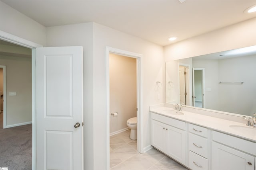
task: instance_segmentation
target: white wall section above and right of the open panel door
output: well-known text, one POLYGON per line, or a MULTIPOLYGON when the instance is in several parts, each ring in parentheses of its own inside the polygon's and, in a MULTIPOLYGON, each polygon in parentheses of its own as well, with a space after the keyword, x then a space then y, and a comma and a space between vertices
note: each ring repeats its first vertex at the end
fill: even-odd
POLYGON ((48 47, 82 46, 84 48, 84 169, 93 170, 94 161, 97 161, 97 158, 94 158, 94 145, 97 145, 97 141, 94 144, 93 130, 93 23, 47 27, 46 32, 48 47))

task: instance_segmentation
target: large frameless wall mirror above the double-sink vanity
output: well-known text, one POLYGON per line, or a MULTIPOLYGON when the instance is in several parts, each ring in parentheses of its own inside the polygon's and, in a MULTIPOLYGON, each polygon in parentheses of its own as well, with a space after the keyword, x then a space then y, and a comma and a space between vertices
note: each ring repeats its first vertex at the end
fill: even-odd
POLYGON ((166 103, 256 113, 256 46, 166 62, 166 103))

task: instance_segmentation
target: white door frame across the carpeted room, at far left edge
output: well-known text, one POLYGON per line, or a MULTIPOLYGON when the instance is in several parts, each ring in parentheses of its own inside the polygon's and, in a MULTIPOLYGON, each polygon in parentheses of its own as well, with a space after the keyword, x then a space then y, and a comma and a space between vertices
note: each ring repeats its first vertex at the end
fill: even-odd
POLYGON ((4 104, 3 104, 3 128, 6 128, 6 66, 1 65, 0 68, 3 68, 3 94, 4 94, 4 104))

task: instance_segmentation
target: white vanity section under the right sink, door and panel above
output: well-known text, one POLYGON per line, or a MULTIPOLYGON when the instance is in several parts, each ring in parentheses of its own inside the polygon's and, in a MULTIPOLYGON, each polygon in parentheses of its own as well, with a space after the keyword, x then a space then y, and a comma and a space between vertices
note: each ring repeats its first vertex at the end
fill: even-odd
POLYGON ((254 170, 255 143, 216 131, 212 140, 212 170, 254 170))

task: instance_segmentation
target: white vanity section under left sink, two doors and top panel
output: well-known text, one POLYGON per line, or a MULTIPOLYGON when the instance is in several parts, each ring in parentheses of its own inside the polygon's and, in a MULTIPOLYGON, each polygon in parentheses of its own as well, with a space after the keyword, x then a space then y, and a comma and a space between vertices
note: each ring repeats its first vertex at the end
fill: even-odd
POLYGON ((151 113, 151 145, 182 164, 186 164, 186 124, 151 113))

